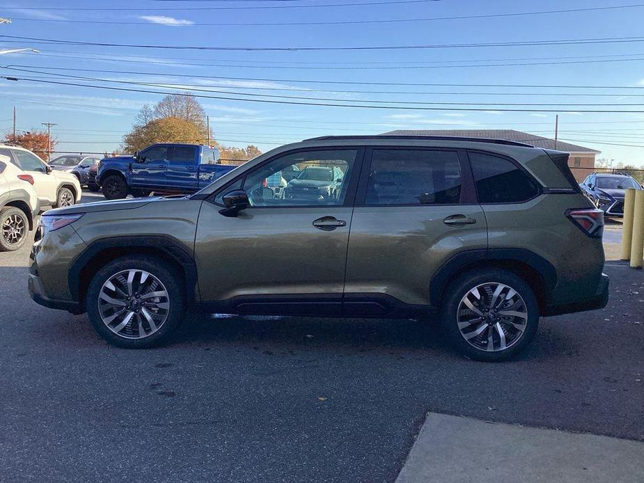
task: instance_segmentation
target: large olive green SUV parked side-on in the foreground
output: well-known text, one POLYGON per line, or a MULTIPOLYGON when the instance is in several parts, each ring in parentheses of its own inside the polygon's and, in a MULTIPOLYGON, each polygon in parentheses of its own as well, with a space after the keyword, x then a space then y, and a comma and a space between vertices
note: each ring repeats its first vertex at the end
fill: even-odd
POLYGON ((54 209, 29 290, 120 347, 187 308, 424 319, 471 358, 514 356, 539 317, 606 306, 603 214, 567 153, 510 141, 333 136, 267 152, 192 196, 54 209), (279 196, 276 173, 331 168, 279 196))

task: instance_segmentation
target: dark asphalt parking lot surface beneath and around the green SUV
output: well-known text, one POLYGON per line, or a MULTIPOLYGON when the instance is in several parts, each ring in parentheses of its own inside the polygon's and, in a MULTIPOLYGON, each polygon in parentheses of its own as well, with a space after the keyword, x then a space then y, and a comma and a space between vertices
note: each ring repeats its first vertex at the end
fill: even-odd
POLYGON ((127 351, 33 303, 28 262, 0 254, 2 481, 391 482, 428 411, 644 441, 644 274, 621 262, 606 309, 497 364, 411 320, 191 316, 127 351))

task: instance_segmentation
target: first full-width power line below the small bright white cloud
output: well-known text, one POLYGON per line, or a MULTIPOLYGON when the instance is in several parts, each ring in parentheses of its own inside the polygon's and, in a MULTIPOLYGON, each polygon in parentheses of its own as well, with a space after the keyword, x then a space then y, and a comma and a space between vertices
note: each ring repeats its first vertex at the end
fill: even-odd
POLYGON ((537 45, 596 45, 644 42, 644 37, 603 37, 560 40, 526 40, 518 42, 481 42, 466 44, 433 44, 433 45, 369 45, 352 47, 212 47, 200 45, 147 45, 117 44, 112 42, 88 42, 85 40, 61 40, 19 35, 0 35, 0 38, 29 40, 32 44, 88 45, 95 47, 134 47, 137 49, 175 49, 175 50, 212 50, 227 52, 311 52, 311 51, 366 51, 366 50, 407 50, 407 49, 460 49, 471 47, 529 47, 537 45))

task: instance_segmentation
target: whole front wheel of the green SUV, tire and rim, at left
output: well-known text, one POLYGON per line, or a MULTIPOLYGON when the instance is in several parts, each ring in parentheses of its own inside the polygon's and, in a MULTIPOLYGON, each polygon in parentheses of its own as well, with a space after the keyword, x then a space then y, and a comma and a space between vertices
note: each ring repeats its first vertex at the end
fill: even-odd
POLYGON ((162 345, 182 322, 185 296, 178 274, 148 255, 113 260, 92 278, 87 313, 108 342, 127 349, 162 345))

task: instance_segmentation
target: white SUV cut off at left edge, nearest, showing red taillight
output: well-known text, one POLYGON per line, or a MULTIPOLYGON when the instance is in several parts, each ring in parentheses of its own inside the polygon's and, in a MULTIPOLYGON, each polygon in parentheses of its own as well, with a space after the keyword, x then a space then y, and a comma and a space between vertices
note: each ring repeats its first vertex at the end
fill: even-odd
POLYGON ((33 177, 0 155, 0 251, 24 245, 39 210, 33 177))

